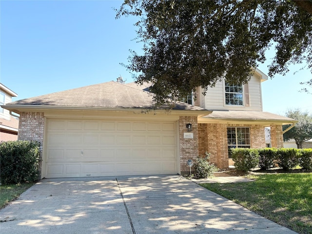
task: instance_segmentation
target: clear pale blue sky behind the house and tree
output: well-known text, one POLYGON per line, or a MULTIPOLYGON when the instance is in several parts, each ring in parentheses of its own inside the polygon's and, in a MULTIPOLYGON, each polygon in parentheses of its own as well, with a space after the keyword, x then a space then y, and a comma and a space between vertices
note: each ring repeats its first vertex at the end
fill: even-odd
MULTIPOLYGON (((0 82, 20 100, 98 84, 121 76, 129 50, 141 52, 135 17, 116 18, 119 0, 0 0, 0 82)), ((267 65, 259 69, 268 74, 267 65)), ((284 116, 299 108, 312 114, 312 94, 299 92, 312 78, 305 64, 262 82, 263 111, 284 116), (296 72, 296 73, 295 73, 296 72), (294 74, 295 73, 295 74, 294 74)))

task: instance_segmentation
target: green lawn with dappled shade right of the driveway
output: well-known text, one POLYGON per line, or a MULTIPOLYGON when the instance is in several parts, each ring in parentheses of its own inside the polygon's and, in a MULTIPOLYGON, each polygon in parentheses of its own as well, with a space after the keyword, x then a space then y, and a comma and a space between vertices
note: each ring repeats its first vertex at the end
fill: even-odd
POLYGON ((299 234, 312 234, 312 173, 253 178, 253 182, 201 186, 299 234))

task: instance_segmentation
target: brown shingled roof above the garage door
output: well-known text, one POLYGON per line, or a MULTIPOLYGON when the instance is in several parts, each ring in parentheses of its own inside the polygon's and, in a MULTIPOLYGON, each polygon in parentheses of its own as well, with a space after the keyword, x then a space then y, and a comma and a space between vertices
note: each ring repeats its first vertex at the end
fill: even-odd
MULTIPOLYGON (((115 81, 84 86, 34 98, 26 98, 7 103, 4 108, 18 107, 68 107, 105 109, 152 109, 153 94, 115 81)), ((161 106, 159 109, 166 109, 161 106)), ((204 110, 200 107, 177 102, 174 110, 204 110)))

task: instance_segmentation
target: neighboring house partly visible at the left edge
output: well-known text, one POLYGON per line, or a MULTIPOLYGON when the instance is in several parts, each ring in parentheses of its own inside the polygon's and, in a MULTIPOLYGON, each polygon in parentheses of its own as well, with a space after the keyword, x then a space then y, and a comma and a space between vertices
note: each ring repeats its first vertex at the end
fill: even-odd
MULTIPOLYGON (((0 105, 12 101, 17 97, 9 88, 0 83, 0 105)), ((0 107, 0 141, 17 140, 19 132, 19 120, 10 115, 10 112, 0 107)))

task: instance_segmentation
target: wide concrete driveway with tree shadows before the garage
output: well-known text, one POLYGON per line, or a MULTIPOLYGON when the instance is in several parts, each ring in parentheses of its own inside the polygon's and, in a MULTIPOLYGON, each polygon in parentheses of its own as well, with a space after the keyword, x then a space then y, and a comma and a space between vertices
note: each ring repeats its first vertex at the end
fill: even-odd
POLYGON ((182 176, 43 179, 1 234, 295 234, 182 176))

